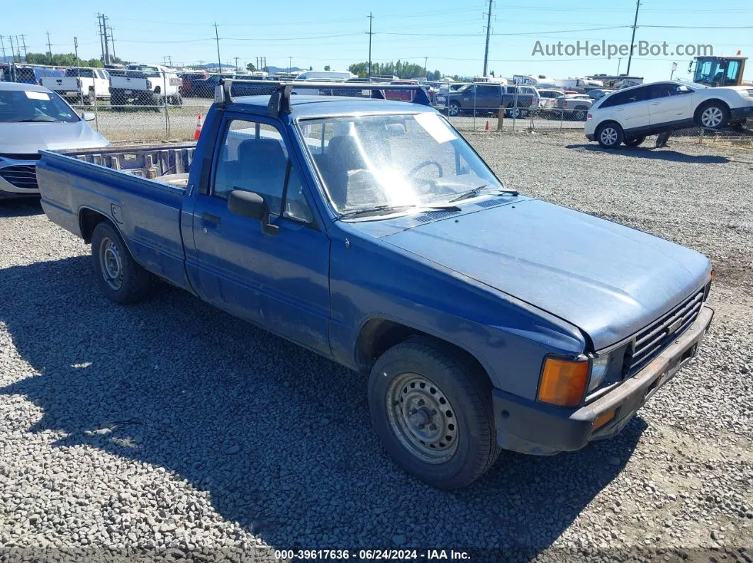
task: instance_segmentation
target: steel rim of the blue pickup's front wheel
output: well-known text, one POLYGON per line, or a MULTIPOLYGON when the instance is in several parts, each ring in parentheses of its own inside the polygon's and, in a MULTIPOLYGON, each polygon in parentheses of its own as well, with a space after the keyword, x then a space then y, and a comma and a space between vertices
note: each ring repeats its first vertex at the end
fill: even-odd
POLYGON ((441 464, 458 449, 458 421, 450 400, 419 374, 401 374, 389 386, 387 413, 392 432, 416 458, 441 464))

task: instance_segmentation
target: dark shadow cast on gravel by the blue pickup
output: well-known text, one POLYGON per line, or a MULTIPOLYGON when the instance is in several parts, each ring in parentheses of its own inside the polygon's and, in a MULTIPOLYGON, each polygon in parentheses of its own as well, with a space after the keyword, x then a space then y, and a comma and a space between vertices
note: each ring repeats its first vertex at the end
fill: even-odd
MULTIPOLYGON (((80 454, 93 465, 104 465, 99 449, 172 471, 279 549, 535 554, 620 473, 645 428, 638 417, 577 453, 502 453, 473 486, 441 492, 386 458, 363 377, 181 290, 157 285, 145 304, 114 306, 80 256, 0 270, 0 293, 0 321, 29 365, 0 394, 41 408, 30 433, 95 448, 80 454)), ((123 487, 114 475, 112 486, 123 487)), ((185 510, 166 507, 177 522, 185 510)))

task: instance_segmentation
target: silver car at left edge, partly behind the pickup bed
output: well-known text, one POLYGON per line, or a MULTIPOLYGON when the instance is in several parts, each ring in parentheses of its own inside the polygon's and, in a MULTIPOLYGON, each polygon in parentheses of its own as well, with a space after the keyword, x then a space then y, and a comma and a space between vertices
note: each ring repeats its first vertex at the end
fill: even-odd
POLYGON ((0 82, 0 199, 37 195, 39 150, 108 147, 107 139, 55 92, 0 82))

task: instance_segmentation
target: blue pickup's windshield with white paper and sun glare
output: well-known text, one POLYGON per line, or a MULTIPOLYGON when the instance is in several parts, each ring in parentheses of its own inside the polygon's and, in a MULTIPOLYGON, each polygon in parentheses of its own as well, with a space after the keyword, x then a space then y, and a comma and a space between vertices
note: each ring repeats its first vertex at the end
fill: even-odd
POLYGON ((438 114, 331 117, 298 126, 341 214, 430 207, 504 189, 438 114))

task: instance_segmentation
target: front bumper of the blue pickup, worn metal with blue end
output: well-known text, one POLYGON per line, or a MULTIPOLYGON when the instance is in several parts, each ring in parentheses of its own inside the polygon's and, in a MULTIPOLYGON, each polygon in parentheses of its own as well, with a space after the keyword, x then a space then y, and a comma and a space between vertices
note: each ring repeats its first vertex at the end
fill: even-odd
POLYGON ((614 436, 657 389, 696 355, 713 316, 714 310, 704 305, 693 325, 642 371, 584 407, 554 407, 494 389, 492 400, 499 446, 549 456, 581 449, 590 440, 614 436), (616 410, 614 418, 594 430, 596 419, 611 410, 616 410))

